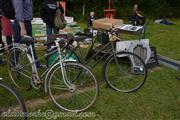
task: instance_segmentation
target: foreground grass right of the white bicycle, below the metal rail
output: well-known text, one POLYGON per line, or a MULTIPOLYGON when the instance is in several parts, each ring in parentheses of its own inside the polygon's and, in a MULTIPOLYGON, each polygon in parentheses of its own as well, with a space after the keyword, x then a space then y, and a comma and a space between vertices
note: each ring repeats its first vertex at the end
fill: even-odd
MULTIPOLYGON (((138 92, 131 94, 118 93, 100 82, 98 100, 88 110, 88 112, 94 112, 96 117, 87 119, 180 119, 180 93, 178 92, 180 83, 174 78, 176 75, 178 75, 176 71, 164 67, 150 71, 145 85, 138 92)), ((40 108, 41 111, 49 109, 63 112, 53 103, 45 104, 40 108)), ((66 120, 66 118, 59 119, 66 120)))

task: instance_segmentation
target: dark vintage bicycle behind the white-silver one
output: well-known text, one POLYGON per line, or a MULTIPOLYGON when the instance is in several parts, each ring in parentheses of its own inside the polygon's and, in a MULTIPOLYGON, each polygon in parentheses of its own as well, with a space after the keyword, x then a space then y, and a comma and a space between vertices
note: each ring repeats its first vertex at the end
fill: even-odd
POLYGON ((72 46, 71 51, 76 54, 81 63, 92 68, 105 60, 102 67, 102 78, 112 89, 125 93, 138 90, 147 79, 148 73, 144 60, 135 53, 116 50, 116 42, 120 40, 118 28, 105 32, 108 34, 104 38, 109 38, 109 40, 104 45, 98 46, 96 46, 97 35, 92 37, 93 35, 89 34, 77 34, 75 37, 78 40, 78 45, 72 46), (92 38, 92 43, 85 59, 83 59, 79 42, 89 36, 92 38))

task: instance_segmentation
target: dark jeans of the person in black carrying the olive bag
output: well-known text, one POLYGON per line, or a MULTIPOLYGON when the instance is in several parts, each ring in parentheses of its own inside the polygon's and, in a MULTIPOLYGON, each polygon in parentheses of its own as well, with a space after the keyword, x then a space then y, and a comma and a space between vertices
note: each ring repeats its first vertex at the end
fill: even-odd
MULTIPOLYGON (((46 34, 47 34, 47 42, 49 43, 49 42, 51 42, 49 35, 59 34, 59 29, 56 29, 56 28, 51 27, 49 25, 46 25, 46 34)), ((51 45, 47 45, 47 48, 50 49, 51 45)))

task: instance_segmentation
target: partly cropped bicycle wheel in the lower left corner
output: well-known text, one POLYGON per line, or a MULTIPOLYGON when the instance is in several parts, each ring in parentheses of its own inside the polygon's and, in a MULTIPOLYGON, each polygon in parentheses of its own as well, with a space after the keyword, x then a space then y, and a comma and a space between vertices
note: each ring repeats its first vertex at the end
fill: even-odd
POLYGON ((26 106, 20 94, 0 80, 0 118, 26 120, 26 106))

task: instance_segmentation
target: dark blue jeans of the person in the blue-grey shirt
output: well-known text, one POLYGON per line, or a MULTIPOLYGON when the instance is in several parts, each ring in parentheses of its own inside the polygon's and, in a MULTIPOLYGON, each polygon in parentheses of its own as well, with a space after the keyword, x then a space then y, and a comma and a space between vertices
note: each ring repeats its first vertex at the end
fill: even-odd
MULTIPOLYGON (((32 24, 31 21, 24 21, 24 25, 27 31, 28 36, 32 36, 32 24)), ((13 29, 14 29, 14 43, 19 43, 21 40, 21 30, 20 30, 20 25, 19 22, 15 20, 13 24, 13 29)), ((34 44, 33 46, 33 52, 34 52, 34 58, 37 59, 36 52, 34 49, 34 44)), ((41 64, 39 61, 36 62, 36 66, 39 67, 41 64)))

